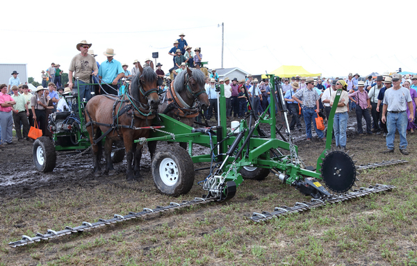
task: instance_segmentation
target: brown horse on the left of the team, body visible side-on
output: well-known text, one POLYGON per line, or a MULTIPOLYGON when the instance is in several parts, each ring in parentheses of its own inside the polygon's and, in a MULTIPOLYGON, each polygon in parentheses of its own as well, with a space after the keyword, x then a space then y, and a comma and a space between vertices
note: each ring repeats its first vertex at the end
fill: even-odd
POLYGON ((104 173, 114 168, 111 161, 111 147, 113 142, 122 139, 126 149, 126 178, 128 181, 140 178, 140 158, 142 157, 142 145, 133 143, 138 138, 147 138, 148 129, 139 129, 151 126, 152 119, 156 116, 159 106, 157 94, 158 78, 152 67, 142 68, 139 63, 140 74, 133 77, 130 86, 130 94, 120 97, 115 95, 98 95, 92 97, 85 106, 85 121, 90 134, 90 142, 94 154, 94 172, 101 170, 101 138, 106 137, 104 154, 106 168, 104 173), (102 133, 104 133, 102 135, 102 133), (134 169, 132 169, 132 161, 134 169))

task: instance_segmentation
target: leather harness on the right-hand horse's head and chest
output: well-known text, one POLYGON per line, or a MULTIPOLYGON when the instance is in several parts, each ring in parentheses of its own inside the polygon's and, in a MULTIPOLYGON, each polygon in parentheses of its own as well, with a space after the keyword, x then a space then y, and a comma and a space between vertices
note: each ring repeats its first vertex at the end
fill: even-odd
MULTIPOLYGON (((188 75, 188 74, 187 74, 188 75)), ((192 106, 188 106, 188 104, 183 101, 181 96, 174 90, 174 81, 172 81, 170 88, 167 90, 167 93, 170 93, 170 98, 167 98, 168 106, 163 111, 163 114, 170 113, 170 111, 173 111, 175 115, 178 117, 186 117, 186 118, 193 118, 197 117, 199 115, 199 101, 197 97, 199 97, 200 94, 206 92, 206 90, 202 89, 198 92, 193 92, 190 88, 190 79, 193 77, 187 78, 186 83, 184 83, 184 86, 186 87, 187 91, 193 95, 194 100, 192 103, 192 106)))

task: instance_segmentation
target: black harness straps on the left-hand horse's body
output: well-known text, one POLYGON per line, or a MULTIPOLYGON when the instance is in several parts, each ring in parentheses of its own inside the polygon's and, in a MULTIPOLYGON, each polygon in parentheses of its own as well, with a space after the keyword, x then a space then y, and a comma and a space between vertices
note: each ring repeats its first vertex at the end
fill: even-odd
MULTIPOLYGON (((149 94, 151 94, 152 92, 155 92, 155 91, 156 91, 156 89, 152 89, 152 90, 149 90, 145 93, 145 91, 142 90, 142 86, 140 86, 140 92, 144 95, 144 97, 147 97, 147 95, 149 95, 149 94)), ((113 131, 113 132, 117 131, 117 135, 119 135, 119 128, 138 129, 134 126, 135 117, 146 120, 147 125, 148 125, 148 119, 154 119, 154 117, 156 117, 156 114, 152 113, 152 111, 150 110, 150 106, 148 104, 140 103, 139 101, 136 101, 135 99, 132 100, 131 96, 127 93, 125 93, 123 95, 120 95, 118 97, 111 96, 109 94, 104 94, 104 96, 107 97, 108 99, 112 99, 112 100, 115 101, 113 103, 113 112, 112 112, 113 124, 105 124, 105 123, 99 123, 99 122, 93 121, 91 119, 90 113, 88 113, 87 108, 85 108, 85 113, 88 115, 88 118, 90 119, 90 121, 87 124, 85 124, 85 126, 90 126, 91 125, 92 134, 94 134, 93 125, 109 127, 108 130, 104 134, 102 134, 99 138, 94 140, 94 144, 97 144, 98 142, 100 142, 104 137, 106 137, 106 135, 108 135, 108 133, 111 133, 111 131, 113 131), (127 99, 124 99, 124 96, 126 96, 127 99), (136 105, 135 105, 135 103, 133 103, 133 101, 136 101, 137 103, 139 103, 140 107, 139 108, 136 107, 136 105), (116 111, 118 103, 120 103, 120 106, 119 106, 118 110, 116 111), (125 105, 122 107, 123 103, 125 103, 125 105), (130 125, 119 124, 119 117, 122 116, 124 113, 126 113, 126 115, 131 116, 131 124, 130 125)))

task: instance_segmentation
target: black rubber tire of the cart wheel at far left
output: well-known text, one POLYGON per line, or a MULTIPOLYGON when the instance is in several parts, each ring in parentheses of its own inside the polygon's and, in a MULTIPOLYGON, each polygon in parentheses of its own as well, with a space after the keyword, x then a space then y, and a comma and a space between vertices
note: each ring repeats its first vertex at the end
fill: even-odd
POLYGON ((54 142, 48 137, 40 137, 33 142, 33 163, 35 164, 36 169, 40 172, 52 172, 56 166, 56 151, 54 142), (43 159, 44 162, 41 165, 38 161, 37 151, 39 149, 43 150, 43 159))

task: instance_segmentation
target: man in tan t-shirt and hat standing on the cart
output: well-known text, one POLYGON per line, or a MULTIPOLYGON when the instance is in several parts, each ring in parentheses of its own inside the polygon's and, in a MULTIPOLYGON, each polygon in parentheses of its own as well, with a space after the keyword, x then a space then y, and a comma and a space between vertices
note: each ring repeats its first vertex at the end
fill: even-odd
POLYGON ((92 44, 89 44, 86 40, 82 40, 76 44, 76 49, 81 51, 74 58, 72 58, 70 63, 70 69, 68 71, 68 85, 70 89, 79 89, 80 99, 85 99, 88 101, 91 99, 92 85, 86 85, 92 83, 91 76, 97 76, 99 70, 97 67, 96 60, 94 56, 88 53, 92 44), (75 78, 75 85, 72 83, 72 78, 75 78))

